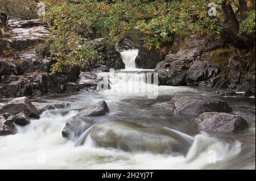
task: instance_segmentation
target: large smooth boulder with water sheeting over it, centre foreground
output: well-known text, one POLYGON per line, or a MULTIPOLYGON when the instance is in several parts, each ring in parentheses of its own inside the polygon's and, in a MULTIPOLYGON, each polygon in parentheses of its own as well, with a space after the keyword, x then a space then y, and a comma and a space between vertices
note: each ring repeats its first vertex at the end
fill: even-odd
POLYGON ((124 151, 185 155, 191 146, 191 142, 168 128, 146 128, 123 121, 97 124, 89 136, 97 146, 124 151))

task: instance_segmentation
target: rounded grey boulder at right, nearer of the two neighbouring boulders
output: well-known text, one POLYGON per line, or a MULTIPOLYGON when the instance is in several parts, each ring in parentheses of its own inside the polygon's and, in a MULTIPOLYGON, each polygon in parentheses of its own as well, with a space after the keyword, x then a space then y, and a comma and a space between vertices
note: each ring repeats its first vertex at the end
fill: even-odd
POLYGON ((212 132, 239 132, 249 128, 246 120, 241 116, 230 115, 224 112, 205 112, 195 120, 203 131, 212 132))

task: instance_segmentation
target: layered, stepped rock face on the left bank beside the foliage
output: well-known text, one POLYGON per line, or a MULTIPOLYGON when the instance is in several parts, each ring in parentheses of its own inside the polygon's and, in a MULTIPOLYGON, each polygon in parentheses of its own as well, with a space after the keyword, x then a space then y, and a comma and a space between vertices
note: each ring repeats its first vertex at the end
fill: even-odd
POLYGON ((9 21, 13 30, 8 39, 14 55, 0 58, 0 97, 36 96, 78 91, 80 70, 73 66, 64 73, 50 74, 52 61, 36 53, 39 43, 45 43, 50 30, 40 20, 9 21))

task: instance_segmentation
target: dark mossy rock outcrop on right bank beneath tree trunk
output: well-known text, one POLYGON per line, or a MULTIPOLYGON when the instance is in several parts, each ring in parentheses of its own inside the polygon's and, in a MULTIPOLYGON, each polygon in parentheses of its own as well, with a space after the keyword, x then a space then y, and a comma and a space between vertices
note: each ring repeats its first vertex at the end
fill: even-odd
POLYGON ((211 37, 176 37, 155 71, 160 85, 209 86, 255 95, 255 47, 238 49, 211 37))

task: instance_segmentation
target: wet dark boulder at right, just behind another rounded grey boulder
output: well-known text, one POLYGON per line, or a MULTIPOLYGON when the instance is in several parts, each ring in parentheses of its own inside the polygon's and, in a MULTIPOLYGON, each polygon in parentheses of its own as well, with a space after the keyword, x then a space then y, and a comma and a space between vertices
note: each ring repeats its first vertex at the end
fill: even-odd
POLYGON ((228 103, 202 96, 181 96, 172 98, 170 104, 175 115, 198 116, 203 112, 232 112, 228 103))

